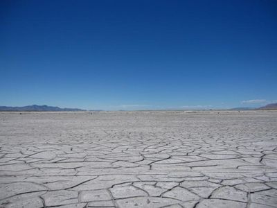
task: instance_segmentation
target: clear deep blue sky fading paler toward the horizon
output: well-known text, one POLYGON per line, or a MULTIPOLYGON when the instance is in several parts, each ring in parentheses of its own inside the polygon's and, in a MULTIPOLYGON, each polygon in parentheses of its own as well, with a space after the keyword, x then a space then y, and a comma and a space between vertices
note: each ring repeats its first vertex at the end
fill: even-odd
POLYGON ((277 1, 0 1, 0 105, 277 100, 277 1))

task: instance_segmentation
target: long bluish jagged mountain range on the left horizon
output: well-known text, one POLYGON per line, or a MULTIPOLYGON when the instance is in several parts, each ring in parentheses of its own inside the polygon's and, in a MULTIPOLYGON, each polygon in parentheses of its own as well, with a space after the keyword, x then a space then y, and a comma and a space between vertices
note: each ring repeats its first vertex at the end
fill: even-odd
POLYGON ((0 106, 0 111, 84 111, 79 108, 60 108, 48 105, 27 105, 24 107, 0 106))

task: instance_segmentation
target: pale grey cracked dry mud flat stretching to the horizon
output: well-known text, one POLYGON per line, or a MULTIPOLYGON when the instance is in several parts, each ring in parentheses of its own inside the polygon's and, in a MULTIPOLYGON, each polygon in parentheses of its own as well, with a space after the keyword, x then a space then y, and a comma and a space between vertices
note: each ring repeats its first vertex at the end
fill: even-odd
POLYGON ((0 141, 0 207, 277 207, 277 112, 6 112, 0 141))

